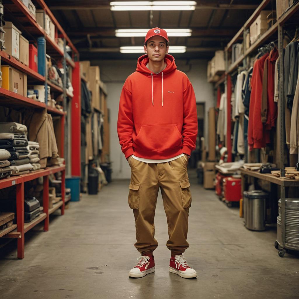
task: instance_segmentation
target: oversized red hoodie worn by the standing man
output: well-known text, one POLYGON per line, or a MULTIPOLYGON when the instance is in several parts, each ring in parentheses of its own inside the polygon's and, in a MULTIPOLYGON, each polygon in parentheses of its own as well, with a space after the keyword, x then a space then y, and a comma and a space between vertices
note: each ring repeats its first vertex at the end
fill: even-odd
POLYGON ((118 111, 118 138, 126 158, 168 159, 195 149, 197 112, 193 87, 166 55, 159 74, 147 67, 146 55, 123 85, 118 111))

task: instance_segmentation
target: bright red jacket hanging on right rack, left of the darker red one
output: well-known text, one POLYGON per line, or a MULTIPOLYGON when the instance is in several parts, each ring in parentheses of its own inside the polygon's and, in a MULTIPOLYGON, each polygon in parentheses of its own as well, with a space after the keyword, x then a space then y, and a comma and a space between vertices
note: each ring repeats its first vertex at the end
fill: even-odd
POLYGON ((269 132, 266 132, 261 118, 264 63, 268 56, 269 53, 264 54, 253 66, 248 121, 249 150, 266 147, 270 143, 269 132))

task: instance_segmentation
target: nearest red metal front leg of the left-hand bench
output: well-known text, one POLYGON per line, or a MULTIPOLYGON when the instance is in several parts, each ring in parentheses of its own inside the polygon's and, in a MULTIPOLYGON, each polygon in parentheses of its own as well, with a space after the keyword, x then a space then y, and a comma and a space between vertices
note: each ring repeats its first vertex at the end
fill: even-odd
POLYGON ((17 231, 21 233, 18 239, 18 259, 24 258, 25 233, 24 233, 24 183, 17 184, 17 231))

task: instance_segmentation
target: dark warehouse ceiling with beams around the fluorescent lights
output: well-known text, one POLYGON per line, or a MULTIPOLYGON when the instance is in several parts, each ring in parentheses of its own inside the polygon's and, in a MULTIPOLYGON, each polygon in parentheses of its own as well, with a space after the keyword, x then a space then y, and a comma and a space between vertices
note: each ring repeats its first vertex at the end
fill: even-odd
POLYGON ((84 59, 131 59, 121 46, 143 46, 144 37, 116 37, 115 29, 188 28, 189 37, 170 37, 170 46, 187 46, 176 58, 210 58, 242 27, 261 1, 196 1, 195 10, 113 11, 110 1, 47 0, 58 22, 84 59))

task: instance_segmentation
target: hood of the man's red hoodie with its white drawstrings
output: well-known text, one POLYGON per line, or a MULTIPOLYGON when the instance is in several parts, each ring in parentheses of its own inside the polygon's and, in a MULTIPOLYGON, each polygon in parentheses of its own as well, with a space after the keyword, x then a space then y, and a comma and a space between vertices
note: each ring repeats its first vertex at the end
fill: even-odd
POLYGON ((152 77, 152 106, 154 106, 154 83, 153 83, 153 75, 159 75, 161 74, 161 80, 162 80, 162 107, 164 103, 164 96, 163 96, 163 74, 169 74, 170 72, 176 70, 176 63, 174 62, 174 57, 167 54, 164 57, 164 62, 166 62, 166 68, 161 71, 158 74, 153 74, 152 71, 150 71, 147 68, 147 63, 149 62, 149 58, 147 54, 142 55, 141 57, 138 58, 137 61, 137 68, 136 71, 140 72, 141 74, 144 74, 146 76, 151 76, 152 77))

